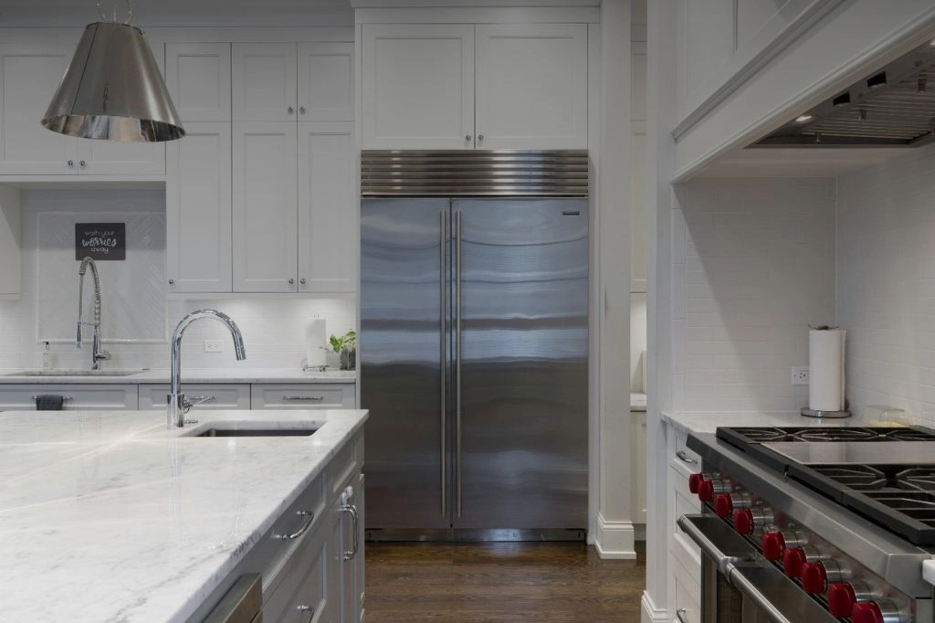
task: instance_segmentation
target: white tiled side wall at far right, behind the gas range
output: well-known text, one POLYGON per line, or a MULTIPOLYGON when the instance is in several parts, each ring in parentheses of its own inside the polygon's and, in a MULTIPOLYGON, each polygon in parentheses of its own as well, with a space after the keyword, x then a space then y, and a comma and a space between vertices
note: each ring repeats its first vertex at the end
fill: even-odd
POLYGON ((839 180, 838 319, 847 389, 935 424, 935 148, 839 180))

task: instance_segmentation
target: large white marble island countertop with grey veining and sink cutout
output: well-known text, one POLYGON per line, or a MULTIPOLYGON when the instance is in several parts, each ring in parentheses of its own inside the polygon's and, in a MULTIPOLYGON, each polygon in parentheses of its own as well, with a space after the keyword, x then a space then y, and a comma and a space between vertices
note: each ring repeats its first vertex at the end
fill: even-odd
POLYGON ((0 413, 4 620, 183 621, 365 411, 0 413), (211 423, 310 437, 191 438, 211 423))

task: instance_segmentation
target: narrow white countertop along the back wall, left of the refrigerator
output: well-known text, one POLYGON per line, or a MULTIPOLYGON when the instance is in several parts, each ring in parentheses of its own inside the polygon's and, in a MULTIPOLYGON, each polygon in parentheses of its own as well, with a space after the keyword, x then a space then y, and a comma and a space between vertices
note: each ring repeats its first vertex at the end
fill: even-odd
MULTIPOLYGON (((143 369, 134 374, 110 376, 68 375, 30 376, 22 370, 0 370, 0 384, 141 384, 168 383, 168 369, 143 369)), ((66 370, 65 370, 66 371, 66 370)), ((107 371, 106 364, 104 371, 107 371)), ((357 381, 354 370, 328 369, 324 372, 300 368, 182 368, 181 380, 189 383, 347 383, 357 381)))

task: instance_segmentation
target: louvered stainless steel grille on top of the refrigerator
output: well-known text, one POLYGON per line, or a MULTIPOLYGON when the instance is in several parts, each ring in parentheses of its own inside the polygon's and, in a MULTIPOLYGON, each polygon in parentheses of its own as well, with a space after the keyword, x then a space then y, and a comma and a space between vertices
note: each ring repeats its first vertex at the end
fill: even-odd
POLYGON ((587 196, 587 150, 361 152, 361 196, 587 196))

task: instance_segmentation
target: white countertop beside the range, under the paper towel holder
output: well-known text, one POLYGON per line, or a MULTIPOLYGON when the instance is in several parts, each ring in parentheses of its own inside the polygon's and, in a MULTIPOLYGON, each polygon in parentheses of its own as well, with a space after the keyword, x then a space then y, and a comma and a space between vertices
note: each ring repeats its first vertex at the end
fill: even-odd
POLYGON ((865 420, 857 415, 844 418, 805 417, 786 412, 688 412, 664 411, 662 421, 685 433, 712 433, 717 427, 866 427, 902 426, 900 422, 865 420))

